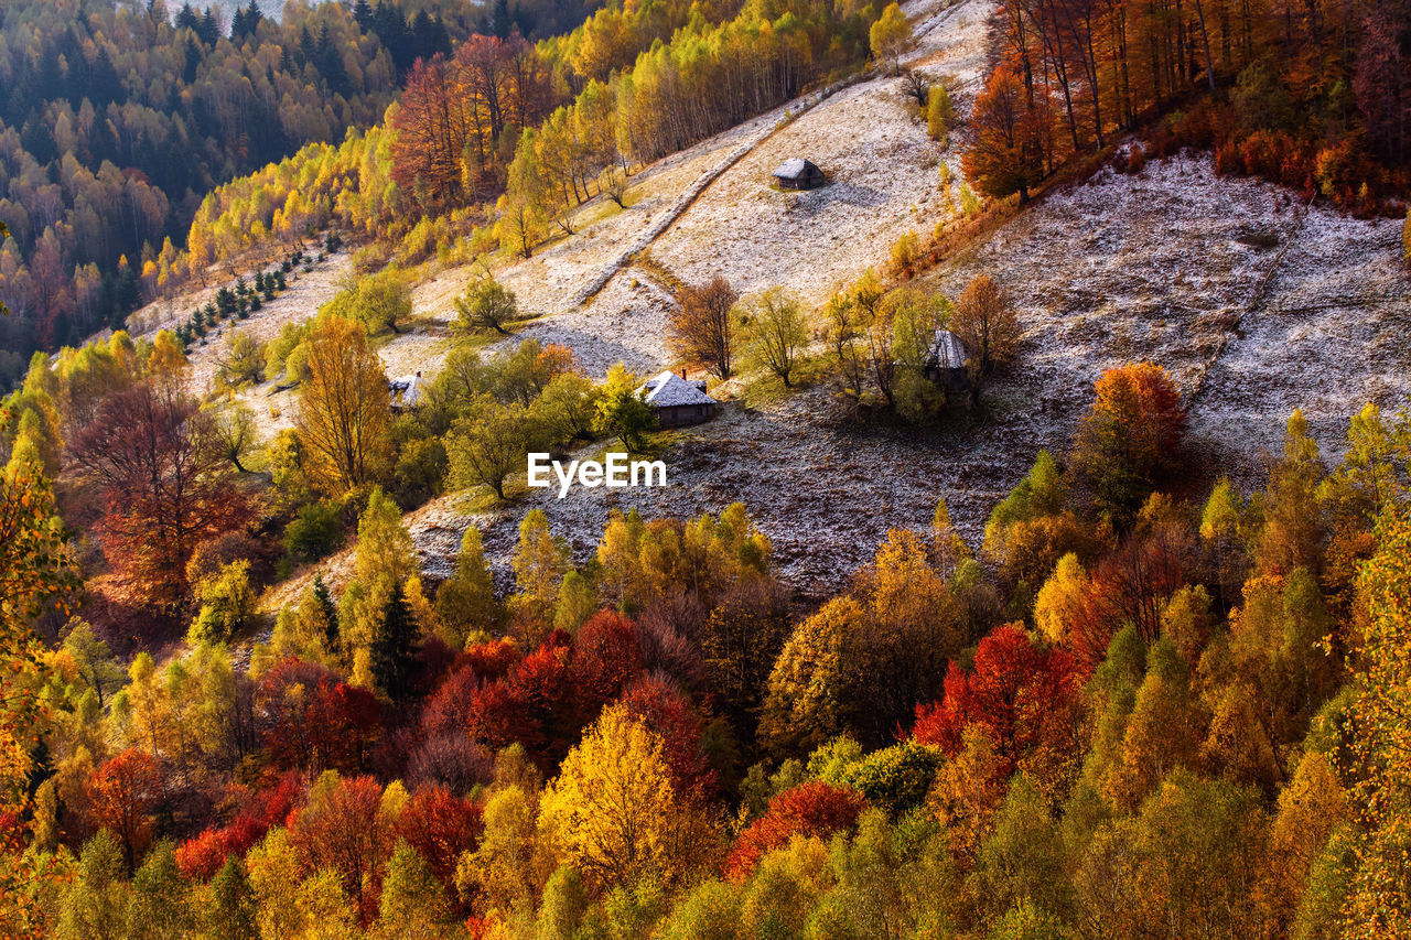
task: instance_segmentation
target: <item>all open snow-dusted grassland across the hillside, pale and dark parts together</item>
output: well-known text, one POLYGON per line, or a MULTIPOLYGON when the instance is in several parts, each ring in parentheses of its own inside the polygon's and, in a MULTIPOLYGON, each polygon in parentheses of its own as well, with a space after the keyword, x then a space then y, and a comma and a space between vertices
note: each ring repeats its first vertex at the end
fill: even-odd
MULTIPOLYGON (((964 113, 985 65, 991 3, 914 0, 904 10, 920 35, 910 64, 933 79, 950 76, 964 113)), ((576 234, 526 261, 497 263, 495 277, 536 318, 501 344, 528 336, 563 343, 591 375, 618 361, 656 371, 674 364, 663 343, 673 301, 660 270, 686 281, 718 272, 741 294, 782 285, 816 306, 885 264, 903 233, 930 231, 957 210, 943 196, 940 162, 958 183, 958 148, 941 151, 927 137, 899 78, 872 73, 782 120, 792 107, 641 171, 626 209, 597 199, 580 210, 576 234), (751 140, 756 145, 652 241, 650 270, 628 264, 573 305, 682 193, 751 140), (769 172, 794 155, 818 164, 830 183, 806 193, 773 189, 769 172)), ((1257 486, 1264 452, 1278 447, 1294 408, 1304 408, 1325 456, 1336 459, 1348 419, 1364 402, 1397 408, 1411 395, 1411 284, 1398 230, 1307 206, 1264 182, 1218 176, 1204 154, 1150 161, 1136 175, 1102 169, 1044 193, 921 278, 955 296, 985 271, 1019 309, 1017 363, 986 390, 978 412, 962 409, 919 432, 838 423, 823 388, 727 401, 715 421, 667 438, 665 488, 626 497, 574 490, 563 500, 533 490, 484 512, 467 510, 466 494, 450 494, 409 514, 408 525, 432 580, 449 573, 471 522, 504 579, 531 508, 545 510, 583 560, 614 508, 684 517, 739 500, 772 539, 780 572, 801 596, 820 597, 871 559, 889 528, 927 525, 938 498, 976 545, 995 502, 1038 449, 1067 446, 1092 382, 1133 360, 1157 361, 1181 384, 1201 476, 1230 473, 1257 486)), ((250 329, 261 316, 312 315, 322 296, 313 278, 327 289, 339 264, 305 275, 306 294, 289 291, 250 329)), ((468 267, 453 268, 416 288, 422 326, 382 346, 389 374, 435 374, 449 346, 452 302, 473 277, 468 267)), ((198 350, 198 370, 206 354, 198 350)), ((735 385, 718 397, 728 399, 735 385)), ((337 584, 350 553, 322 567, 337 584)), ((275 589, 265 604, 288 600, 302 580, 275 589)))

